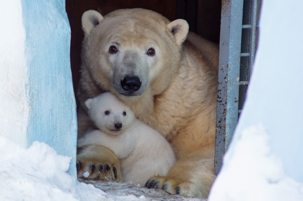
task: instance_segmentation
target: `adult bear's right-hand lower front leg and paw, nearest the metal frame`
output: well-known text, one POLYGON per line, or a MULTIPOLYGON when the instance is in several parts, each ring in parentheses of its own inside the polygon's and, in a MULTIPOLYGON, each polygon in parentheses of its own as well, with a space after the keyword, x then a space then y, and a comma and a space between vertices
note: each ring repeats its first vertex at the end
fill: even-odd
POLYGON ((207 198, 215 180, 214 156, 196 152, 178 160, 167 176, 148 179, 147 188, 161 188, 172 194, 207 198))

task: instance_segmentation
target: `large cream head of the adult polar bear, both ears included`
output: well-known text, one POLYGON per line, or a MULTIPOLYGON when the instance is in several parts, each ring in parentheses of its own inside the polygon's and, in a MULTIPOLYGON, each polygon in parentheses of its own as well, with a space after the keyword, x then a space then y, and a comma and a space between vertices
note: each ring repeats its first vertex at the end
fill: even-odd
POLYGON ((104 91, 127 100, 167 89, 180 66, 188 24, 144 9, 105 17, 90 10, 82 15, 82 29, 82 68, 104 91))

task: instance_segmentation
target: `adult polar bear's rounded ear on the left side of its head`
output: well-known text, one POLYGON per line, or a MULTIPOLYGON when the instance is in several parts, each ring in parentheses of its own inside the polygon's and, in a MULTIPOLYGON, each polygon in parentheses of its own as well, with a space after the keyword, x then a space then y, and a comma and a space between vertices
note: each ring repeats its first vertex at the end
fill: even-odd
POLYGON ((91 29, 97 26, 103 19, 103 16, 94 10, 84 12, 81 18, 84 34, 89 34, 91 29))

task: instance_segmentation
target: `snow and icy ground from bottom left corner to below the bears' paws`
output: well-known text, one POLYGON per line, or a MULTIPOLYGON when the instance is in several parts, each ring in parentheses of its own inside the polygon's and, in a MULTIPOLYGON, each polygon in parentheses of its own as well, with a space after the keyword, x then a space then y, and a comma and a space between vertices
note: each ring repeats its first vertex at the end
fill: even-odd
POLYGON ((69 163, 69 157, 58 155, 45 143, 34 142, 22 149, 0 136, 0 200, 201 200, 131 182, 78 182, 66 173, 69 163))

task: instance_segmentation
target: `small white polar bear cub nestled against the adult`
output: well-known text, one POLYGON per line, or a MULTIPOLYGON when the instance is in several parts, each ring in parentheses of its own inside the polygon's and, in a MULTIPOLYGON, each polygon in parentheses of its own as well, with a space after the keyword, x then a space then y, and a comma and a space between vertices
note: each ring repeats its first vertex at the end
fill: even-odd
POLYGON ((101 145, 121 160, 124 181, 144 185, 152 176, 165 176, 175 163, 172 147, 155 129, 135 118, 134 113, 111 93, 85 101, 88 115, 98 129, 88 129, 78 147, 101 145))

